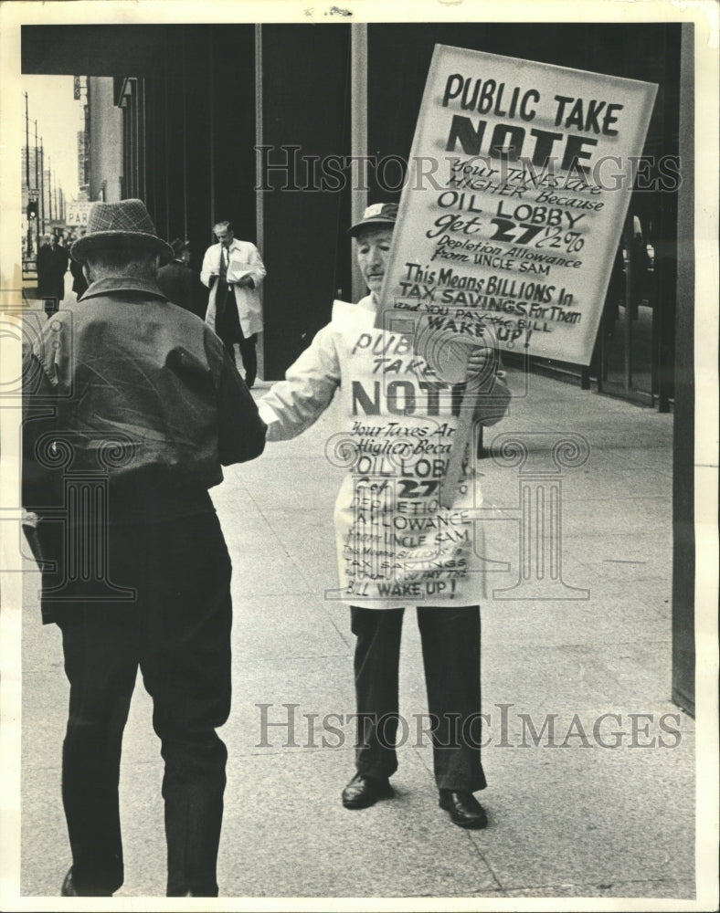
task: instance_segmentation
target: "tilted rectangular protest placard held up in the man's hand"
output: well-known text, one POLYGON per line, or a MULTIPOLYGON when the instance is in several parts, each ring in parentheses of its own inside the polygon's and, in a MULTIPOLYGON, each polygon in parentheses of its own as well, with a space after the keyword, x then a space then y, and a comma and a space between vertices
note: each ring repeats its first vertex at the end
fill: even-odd
POLYGON ((656 90, 436 45, 378 325, 589 364, 656 90))

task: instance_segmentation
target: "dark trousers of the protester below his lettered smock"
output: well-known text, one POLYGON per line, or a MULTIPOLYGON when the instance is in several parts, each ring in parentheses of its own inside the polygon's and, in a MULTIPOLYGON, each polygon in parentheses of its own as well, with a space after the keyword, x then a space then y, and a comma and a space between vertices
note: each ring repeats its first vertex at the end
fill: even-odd
MULTIPOLYGON (((389 777, 397 770, 398 666, 404 609, 351 606, 355 644, 357 771, 389 777)), ((480 760, 480 608, 418 607, 439 789, 475 792, 486 786, 480 760)), ((408 719, 408 739, 417 738, 408 719)), ((405 733, 405 727, 403 726, 405 733)), ((425 738, 425 737, 423 737, 425 738)))

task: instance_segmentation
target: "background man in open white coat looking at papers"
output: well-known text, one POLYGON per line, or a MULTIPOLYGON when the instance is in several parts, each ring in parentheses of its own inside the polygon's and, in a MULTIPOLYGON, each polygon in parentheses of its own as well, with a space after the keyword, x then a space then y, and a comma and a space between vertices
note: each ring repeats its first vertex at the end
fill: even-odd
POLYGON ((213 232, 217 244, 207 248, 200 272, 200 279, 210 289, 205 319, 233 359, 238 343, 245 383, 251 388, 258 373, 255 347, 262 331, 259 289, 265 267, 258 248, 235 237, 232 223, 217 222, 213 232))

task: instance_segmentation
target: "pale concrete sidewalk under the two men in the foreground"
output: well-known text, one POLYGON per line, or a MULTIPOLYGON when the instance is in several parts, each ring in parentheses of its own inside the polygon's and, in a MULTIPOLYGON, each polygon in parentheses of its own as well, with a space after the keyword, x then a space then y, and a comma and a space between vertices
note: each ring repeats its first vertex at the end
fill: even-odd
MULTIPOLYGON (((361 812, 340 803, 354 770, 344 715, 355 707, 349 614, 333 593, 343 477, 324 453, 333 409, 297 440, 231 467, 213 491, 234 565, 223 897, 694 897, 694 722, 670 701, 672 415, 535 375, 527 390, 520 374, 510 379, 511 414, 486 444, 514 433, 530 451, 524 470, 561 480, 567 588, 551 598, 510 589, 521 579, 521 467, 482 460, 486 554, 509 564, 488 575, 482 603, 487 830, 463 831, 438 808, 428 737, 416 731, 427 700, 413 612, 397 796, 361 812), (568 433, 558 469, 550 449, 568 433), (584 441, 585 462, 573 453, 584 441)), ((22 885, 57 896, 69 866, 59 792, 67 685, 58 631, 39 622, 37 582, 26 574, 22 885)), ((164 895, 161 777, 138 684, 119 896, 164 895)))

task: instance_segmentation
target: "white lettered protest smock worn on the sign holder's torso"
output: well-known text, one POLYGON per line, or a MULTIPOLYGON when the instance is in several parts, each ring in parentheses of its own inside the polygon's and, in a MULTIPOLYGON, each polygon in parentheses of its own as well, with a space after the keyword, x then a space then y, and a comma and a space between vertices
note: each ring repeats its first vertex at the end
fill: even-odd
POLYGON ((361 305, 334 302, 329 329, 346 424, 325 452, 350 470, 334 513, 337 596, 376 609, 408 599, 470 604, 488 567, 477 529, 482 492, 467 474, 443 497, 462 391, 374 319, 361 305))

